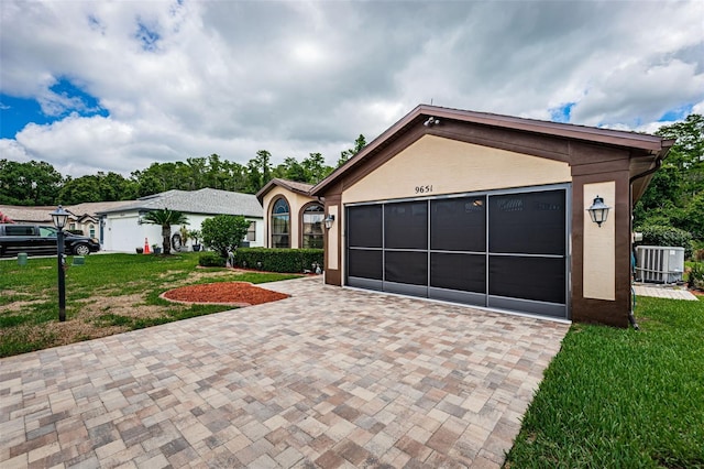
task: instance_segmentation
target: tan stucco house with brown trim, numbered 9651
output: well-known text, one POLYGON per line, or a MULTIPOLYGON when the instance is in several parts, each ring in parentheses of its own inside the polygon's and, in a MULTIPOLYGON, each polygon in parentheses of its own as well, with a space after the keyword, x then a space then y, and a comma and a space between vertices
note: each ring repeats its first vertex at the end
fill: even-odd
POLYGON ((308 193, 326 283, 626 327, 632 205, 672 143, 419 106, 308 193))

